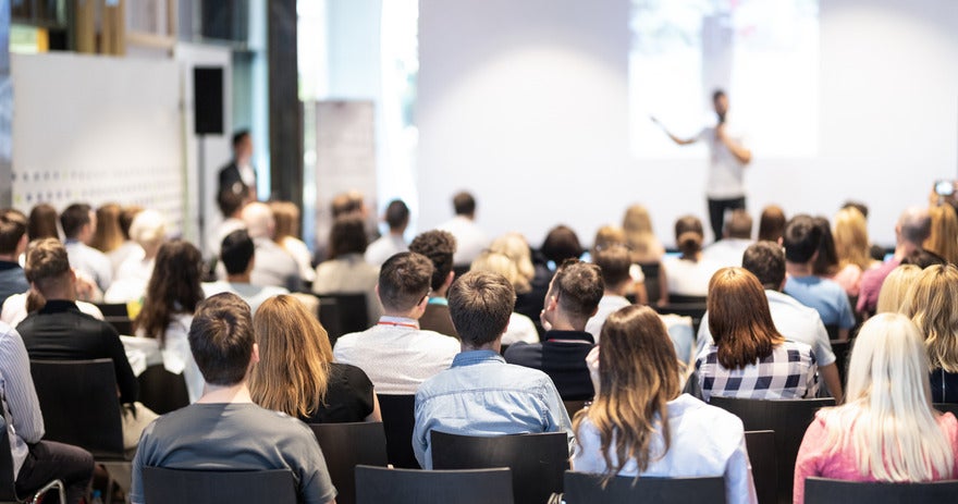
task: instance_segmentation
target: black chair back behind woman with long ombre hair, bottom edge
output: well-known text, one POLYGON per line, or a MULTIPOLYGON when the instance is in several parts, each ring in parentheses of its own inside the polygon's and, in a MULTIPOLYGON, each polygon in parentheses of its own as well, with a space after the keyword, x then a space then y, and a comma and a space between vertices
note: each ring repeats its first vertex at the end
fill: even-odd
POLYGON ((725 480, 714 478, 636 478, 616 476, 602 488, 600 475, 565 472, 566 504, 688 504, 725 502, 725 480))

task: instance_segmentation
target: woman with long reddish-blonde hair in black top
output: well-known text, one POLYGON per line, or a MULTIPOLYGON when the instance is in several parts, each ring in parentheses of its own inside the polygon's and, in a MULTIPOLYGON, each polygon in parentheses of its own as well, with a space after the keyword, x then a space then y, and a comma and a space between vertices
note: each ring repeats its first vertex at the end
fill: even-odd
POLYGON ((253 401, 306 423, 380 421, 372 382, 361 369, 333 362, 326 329, 298 299, 279 295, 253 317, 259 362, 249 378, 253 401))

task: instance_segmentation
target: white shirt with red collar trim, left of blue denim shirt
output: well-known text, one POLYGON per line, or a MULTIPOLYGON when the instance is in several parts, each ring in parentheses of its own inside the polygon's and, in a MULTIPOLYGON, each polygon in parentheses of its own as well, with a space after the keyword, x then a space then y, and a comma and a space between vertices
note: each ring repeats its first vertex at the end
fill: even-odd
POLYGON ((379 394, 415 394, 423 381, 449 369, 459 341, 419 329, 413 319, 382 317, 363 332, 336 340, 336 362, 366 371, 379 394))

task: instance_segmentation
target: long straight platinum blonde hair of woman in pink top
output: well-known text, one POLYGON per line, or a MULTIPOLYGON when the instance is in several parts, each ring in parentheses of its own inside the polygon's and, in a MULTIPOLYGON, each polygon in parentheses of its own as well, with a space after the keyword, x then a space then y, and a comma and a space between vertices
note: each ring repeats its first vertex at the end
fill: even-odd
POLYGON ((845 401, 820 416, 830 444, 850 446, 862 474, 902 482, 953 472, 953 444, 931 408, 921 330, 906 316, 881 314, 862 325, 851 351, 845 401))

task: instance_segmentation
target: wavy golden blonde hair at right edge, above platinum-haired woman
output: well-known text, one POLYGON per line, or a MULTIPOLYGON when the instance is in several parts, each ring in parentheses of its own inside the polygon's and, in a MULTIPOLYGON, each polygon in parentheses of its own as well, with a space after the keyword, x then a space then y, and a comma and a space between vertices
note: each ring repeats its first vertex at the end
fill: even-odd
POLYGON ((958 372, 958 268, 930 266, 908 290, 901 312, 924 333, 932 369, 958 372))

